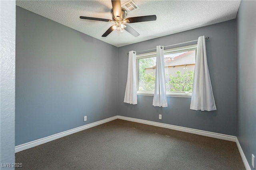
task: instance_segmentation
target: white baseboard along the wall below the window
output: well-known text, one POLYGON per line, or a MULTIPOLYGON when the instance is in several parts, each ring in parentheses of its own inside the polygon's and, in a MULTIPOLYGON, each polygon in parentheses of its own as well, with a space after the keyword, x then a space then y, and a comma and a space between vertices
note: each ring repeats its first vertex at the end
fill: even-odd
POLYGON ((198 129, 191 129, 191 128, 188 128, 188 127, 180 127, 180 126, 169 125, 169 124, 165 124, 165 123, 158 123, 158 122, 154 122, 154 121, 135 119, 135 118, 131 118, 131 117, 118 116, 117 118, 122 119, 122 120, 127 120, 127 121, 133 121, 133 122, 137 122, 137 123, 143 123, 143 124, 146 124, 146 125, 164 127, 164 128, 173 129, 173 130, 176 130, 176 131, 194 133, 194 134, 197 134, 197 135, 202 135, 202 136, 213 137, 213 138, 217 138, 217 139, 223 139, 223 140, 226 140, 226 141, 236 142, 236 137, 231 136, 231 135, 224 135, 224 134, 220 134, 220 133, 202 131, 202 130, 198 130, 198 129))

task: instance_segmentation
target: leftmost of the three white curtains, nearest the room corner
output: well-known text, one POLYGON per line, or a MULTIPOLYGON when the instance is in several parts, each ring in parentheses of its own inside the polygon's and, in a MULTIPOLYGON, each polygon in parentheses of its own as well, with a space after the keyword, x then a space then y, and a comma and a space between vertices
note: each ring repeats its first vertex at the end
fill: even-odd
POLYGON ((130 51, 128 59, 128 74, 124 94, 124 103, 137 104, 136 82, 136 52, 130 51))

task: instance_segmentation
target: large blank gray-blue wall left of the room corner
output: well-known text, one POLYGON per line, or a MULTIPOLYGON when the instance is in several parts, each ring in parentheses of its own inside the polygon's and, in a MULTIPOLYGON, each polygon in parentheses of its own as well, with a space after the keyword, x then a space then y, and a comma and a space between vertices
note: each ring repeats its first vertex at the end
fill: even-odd
POLYGON ((20 7, 16 27, 16 146, 117 115, 117 47, 20 7))

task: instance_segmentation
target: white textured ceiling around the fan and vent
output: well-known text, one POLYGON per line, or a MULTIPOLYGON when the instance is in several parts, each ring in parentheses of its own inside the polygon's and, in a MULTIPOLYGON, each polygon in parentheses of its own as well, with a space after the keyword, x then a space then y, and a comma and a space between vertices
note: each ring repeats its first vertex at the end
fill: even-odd
MULTIPOLYGON (((121 4, 128 0, 121 0, 121 4)), ((128 23, 140 35, 133 37, 127 31, 112 31, 101 35, 111 22, 82 20, 79 16, 111 19, 111 0, 20 0, 16 5, 49 18, 116 47, 145 41, 236 18, 240 0, 134 0, 138 9, 128 12, 126 18, 156 15, 156 21, 128 23)))

